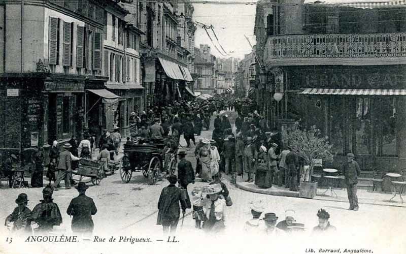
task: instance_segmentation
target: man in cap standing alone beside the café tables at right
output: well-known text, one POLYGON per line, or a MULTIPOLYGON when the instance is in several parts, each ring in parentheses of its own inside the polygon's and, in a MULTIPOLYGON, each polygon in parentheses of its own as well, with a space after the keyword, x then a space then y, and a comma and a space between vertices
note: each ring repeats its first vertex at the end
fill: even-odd
POLYGON ((343 165, 343 174, 346 179, 347 195, 350 201, 349 210, 358 211, 357 184, 358 176, 361 174, 359 165, 354 161, 354 153, 347 154, 347 162, 343 165))

